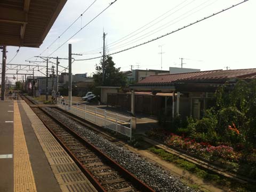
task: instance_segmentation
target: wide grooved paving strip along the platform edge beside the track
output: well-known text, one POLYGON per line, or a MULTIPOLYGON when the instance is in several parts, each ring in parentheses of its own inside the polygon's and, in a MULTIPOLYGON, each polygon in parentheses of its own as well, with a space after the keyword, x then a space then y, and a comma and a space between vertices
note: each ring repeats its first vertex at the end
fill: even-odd
POLYGON ((53 174, 63 192, 96 192, 90 181, 77 167, 73 159, 61 147, 58 141, 47 130, 42 121, 26 102, 21 103, 31 122, 36 137, 45 153, 53 174))

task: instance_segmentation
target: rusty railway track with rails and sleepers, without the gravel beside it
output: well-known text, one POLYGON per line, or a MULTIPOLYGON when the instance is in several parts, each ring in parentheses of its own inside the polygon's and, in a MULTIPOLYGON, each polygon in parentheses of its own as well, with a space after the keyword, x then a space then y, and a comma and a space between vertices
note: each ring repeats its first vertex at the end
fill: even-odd
POLYGON ((154 191, 46 110, 40 107, 33 107, 33 110, 98 191, 154 191))

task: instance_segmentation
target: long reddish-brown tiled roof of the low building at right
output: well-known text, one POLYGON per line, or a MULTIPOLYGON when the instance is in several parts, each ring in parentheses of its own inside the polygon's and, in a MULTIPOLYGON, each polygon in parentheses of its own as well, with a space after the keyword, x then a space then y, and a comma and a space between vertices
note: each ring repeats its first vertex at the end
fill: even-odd
POLYGON ((230 78, 254 78, 256 69, 235 69, 235 70, 210 70, 191 73, 151 75, 142 79, 138 84, 164 84, 177 81, 192 81, 204 79, 230 79, 230 78))

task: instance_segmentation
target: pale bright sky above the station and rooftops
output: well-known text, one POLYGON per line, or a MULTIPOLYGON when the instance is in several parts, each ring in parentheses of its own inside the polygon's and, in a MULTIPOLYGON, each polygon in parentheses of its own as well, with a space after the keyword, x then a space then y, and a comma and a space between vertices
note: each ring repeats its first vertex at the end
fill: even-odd
MULTIPOLYGON (((95 1, 83 14, 82 19, 79 18, 66 33, 60 36, 94 1, 67 1, 41 47, 39 49, 20 47, 17 57, 11 63, 29 64, 25 60, 39 54, 68 58, 68 43, 72 44, 73 53, 83 54, 73 55, 75 59, 100 57, 103 52, 103 31, 107 34, 106 52, 111 54, 170 33, 231 5, 243 2, 243 0, 117 0, 65 43, 114 0, 95 1), (49 46, 55 39, 57 41, 49 46), (60 45, 62 46, 59 47, 60 45)), ((184 68, 201 70, 225 70, 226 67, 228 69, 255 68, 255 54, 253 54, 256 45, 255 7, 256 1, 247 1, 154 42, 114 54, 113 61, 116 67, 121 67, 122 71, 131 70, 131 65, 132 69, 161 69, 159 52, 162 46, 163 70, 169 70, 169 67, 181 67, 180 58, 185 58, 184 68)), ((7 63, 13 58, 17 49, 18 47, 7 46, 7 63)), ((37 59, 39 60, 41 59, 37 59)), ((95 65, 99 62, 99 58, 74 61, 72 72, 92 75, 95 65)), ((67 60, 60 60, 60 63, 62 66, 68 66, 67 60)), ((40 63, 40 65, 46 64, 40 63)), ((38 71, 35 73, 35 76, 37 75, 42 76, 38 71)), ((18 80, 21 79, 22 76, 19 76, 18 80)))

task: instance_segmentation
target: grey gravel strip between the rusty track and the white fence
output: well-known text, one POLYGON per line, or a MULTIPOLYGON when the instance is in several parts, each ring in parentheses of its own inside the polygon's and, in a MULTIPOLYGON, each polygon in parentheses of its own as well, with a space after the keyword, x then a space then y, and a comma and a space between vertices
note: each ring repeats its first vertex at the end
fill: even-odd
POLYGON ((65 114, 59 113, 48 107, 45 107, 45 109, 55 118, 68 125, 70 129, 73 129, 94 146, 97 146, 103 153, 125 167, 125 169, 129 170, 138 179, 145 182, 155 191, 195 191, 182 183, 178 177, 165 171, 157 164, 148 162, 147 159, 142 158, 138 154, 132 153, 123 147, 116 146, 114 143, 111 143, 97 133, 87 129, 85 126, 67 118, 65 114))

